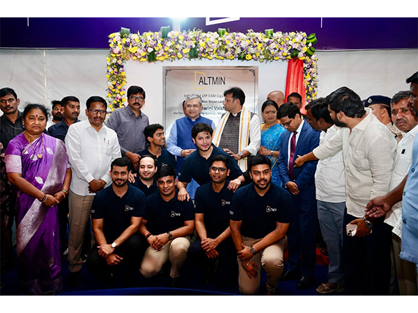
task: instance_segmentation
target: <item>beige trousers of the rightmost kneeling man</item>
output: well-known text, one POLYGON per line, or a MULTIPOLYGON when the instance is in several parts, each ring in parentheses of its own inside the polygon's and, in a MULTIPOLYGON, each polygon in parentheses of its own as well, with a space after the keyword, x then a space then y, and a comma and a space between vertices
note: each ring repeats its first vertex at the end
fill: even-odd
MULTIPOLYGON (((245 246, 252 246, 258 241, 261 241, 261 239, 251 239, 246 236, 242 236, 242 241, 245 246)), ((238 287, 241 294, 246 296, 257 294, 261 281, 261 266, 263 266, 267 273, 266 289, 268 291, 277 289, 281 273, 283 272, 283 256, 286 245, 287 237, 284 237, 281 241, 277 241, 277 243, 273 243, 272 245, 264 248, 251 258, 251 261, 255 262, 258 267, 258 275, 256 278, 248 277, 247 271, 245 271, 245 268, 242 267, 242 263, 237 257, 239 268, 238 287)))

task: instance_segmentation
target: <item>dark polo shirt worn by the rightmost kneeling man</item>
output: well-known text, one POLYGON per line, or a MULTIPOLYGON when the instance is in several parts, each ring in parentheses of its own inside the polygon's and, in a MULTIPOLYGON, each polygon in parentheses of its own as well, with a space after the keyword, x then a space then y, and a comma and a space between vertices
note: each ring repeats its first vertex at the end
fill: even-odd
POLYGON ((284 188, 270 183, 262 197, 251 183, 235 192, 229 218, 242 220, 243 236, 260 239, 276 229, 276 222, 291 223, 291 216, 291 194, 284 188))

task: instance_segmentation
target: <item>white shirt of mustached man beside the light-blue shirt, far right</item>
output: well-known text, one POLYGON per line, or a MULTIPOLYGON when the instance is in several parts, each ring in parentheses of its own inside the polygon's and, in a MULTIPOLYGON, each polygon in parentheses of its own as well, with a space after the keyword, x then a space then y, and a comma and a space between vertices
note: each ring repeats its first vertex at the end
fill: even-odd
MULTIPOLYGON (((408 131, 402 132, 402 140, 399 141, 396 147, 396 159, 394 171, 392 172, 392 180, 390 181, 389 190, 394 189, 400 184, 412 163, 412 146, 414 145, 415 135, 418 133, 418 125, 408 131)), ((385 223, 395 227, 399 220, 401 220, 402 201, 396 203, 392 209, 386 214, 385 223)), ((402 223, 400 224, 402 226, 402 223)), ((392 230, 397 236, 401 237, 402 228, 395 227, 392 230)))

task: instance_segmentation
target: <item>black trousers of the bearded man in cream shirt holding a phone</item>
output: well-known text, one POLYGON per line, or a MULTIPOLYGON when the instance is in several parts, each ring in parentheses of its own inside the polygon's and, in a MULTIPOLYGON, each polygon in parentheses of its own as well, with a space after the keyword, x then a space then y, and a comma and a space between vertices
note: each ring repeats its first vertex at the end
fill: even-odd
POLYGON ((344 216, 344 294, 385 296, 389 294, 390 285, 392 227, 383 223, 385 217, 382 217, 374 221, 373 232, 369 236, 347 236, 345 227, 355 219, 347 213, 344 216), (370 282, 364 281, 365 276, 369 276, 370 282))

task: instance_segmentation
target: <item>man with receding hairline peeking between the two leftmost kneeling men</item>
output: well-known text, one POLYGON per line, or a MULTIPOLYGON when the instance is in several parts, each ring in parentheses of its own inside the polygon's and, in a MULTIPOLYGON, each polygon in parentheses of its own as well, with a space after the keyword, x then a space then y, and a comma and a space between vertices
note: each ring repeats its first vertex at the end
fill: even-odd
POLYGON ((139 159, 139 175, 135 177, 135 182, 132 185, 145 193, 146 198, 158 191, 157 184, 154 181, 157 169, 157 158, 152 154, 144 154, 139 159))

